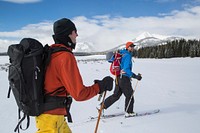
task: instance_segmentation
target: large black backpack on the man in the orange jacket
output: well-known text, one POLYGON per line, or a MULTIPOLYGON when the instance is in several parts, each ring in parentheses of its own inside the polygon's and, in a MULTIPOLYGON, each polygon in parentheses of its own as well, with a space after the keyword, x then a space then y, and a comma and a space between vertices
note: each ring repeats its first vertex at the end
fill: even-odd
MULTIPOLYGON (((51 54, 59 51, 72 53, 64 47, 51 48, 48 45, 43 47, 39 41, 32 38, 24 38, 19 44, 9 46, 7 51, 10 59, 8 98, 12 90, 19 107, 19 122, 15 132, 17 130, 19 132, 19 128, 23 129, 21 123, 25 118, 27 118, 27 127, 25 128, 27 129, 30 121, 29 116, 39 116, 44 111, 66 107, 67 103, 72 102, 70 97, 44 95, 45 69, 50 62, 51 54), (22 118, 20 112, 24 113, 22 118)), ((58 92, 65 91, 60 89, 57 89, 58 92)), ((68 120, 70 118, 71 116, 68 120)))

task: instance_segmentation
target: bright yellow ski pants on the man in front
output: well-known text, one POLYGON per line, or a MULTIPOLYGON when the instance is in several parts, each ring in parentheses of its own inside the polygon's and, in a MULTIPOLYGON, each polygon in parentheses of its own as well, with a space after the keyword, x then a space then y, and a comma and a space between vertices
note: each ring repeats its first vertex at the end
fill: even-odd
POLYGON ((35 120, 36 133, 72 133, 63 115, 41 114, 35 120))

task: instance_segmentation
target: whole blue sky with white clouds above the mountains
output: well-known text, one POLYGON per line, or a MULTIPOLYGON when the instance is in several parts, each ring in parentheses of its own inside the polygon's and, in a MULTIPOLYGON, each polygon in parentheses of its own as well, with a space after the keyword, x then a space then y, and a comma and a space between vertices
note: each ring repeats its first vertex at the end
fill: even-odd
POLYGON ((98 50, 143 32, 200 38, 200 0, 0 0, 0 49, 33 37, 52 44, 52 26, 71 19, 78 42, 98 50))

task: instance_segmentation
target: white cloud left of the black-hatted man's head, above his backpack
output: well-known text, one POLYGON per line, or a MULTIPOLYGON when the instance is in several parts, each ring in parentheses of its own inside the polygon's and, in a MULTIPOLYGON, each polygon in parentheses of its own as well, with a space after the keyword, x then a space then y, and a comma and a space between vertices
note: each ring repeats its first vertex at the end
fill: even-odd
POLYGON ((50 21, 29 24, 12 32, 0 32, 0 49, 2 47, 7 49, 10 44, 17 44, 22 38, 35 38, 43 44, 51 44, 53 42, 52 34, 52 22, 50 21))

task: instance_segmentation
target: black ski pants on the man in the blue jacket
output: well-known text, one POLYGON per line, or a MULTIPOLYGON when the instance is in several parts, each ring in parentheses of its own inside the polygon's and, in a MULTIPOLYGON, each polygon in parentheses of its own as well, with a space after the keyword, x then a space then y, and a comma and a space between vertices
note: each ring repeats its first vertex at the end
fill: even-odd
MULTIPOLYGON (((131 79, 127 76, 118 76, 117 77, 118 85, 115 85, 115 90, 111 96, 106 98, 104 102, 104 108, 109 108, 113 103, 115 103, 122 94, 125 96, 125 111, 127 109, 128 103, 130 101, 131 96, 133 95, 133 89, 131 85, 131 79)), ((131 99, 130 105, 127 109, 128 113, 133 112, 133 104, 134 104, 134 96, 131 99)))

